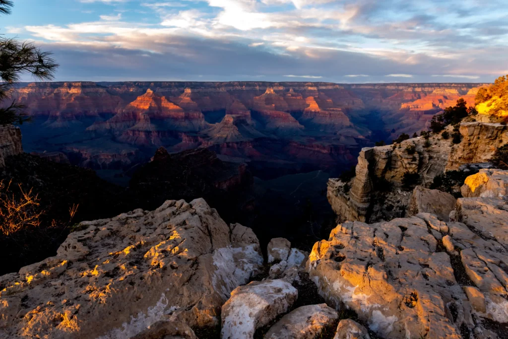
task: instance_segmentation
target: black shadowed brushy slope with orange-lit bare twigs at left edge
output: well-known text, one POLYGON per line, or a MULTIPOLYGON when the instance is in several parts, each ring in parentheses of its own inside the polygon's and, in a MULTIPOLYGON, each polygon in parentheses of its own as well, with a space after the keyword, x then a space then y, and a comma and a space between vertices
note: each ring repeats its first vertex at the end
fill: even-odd
POLYGON ((94 171, 26 153, 6 159, 0 180, 4 186, 0 190, 0 223, 4 225, 0 274, 54 255, 77 222, 132 210, 119 199, 122 189, 94 171), (17 206, 14 215, 10 204, 17 206))

